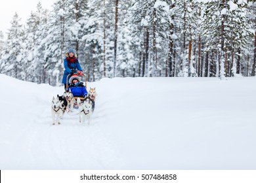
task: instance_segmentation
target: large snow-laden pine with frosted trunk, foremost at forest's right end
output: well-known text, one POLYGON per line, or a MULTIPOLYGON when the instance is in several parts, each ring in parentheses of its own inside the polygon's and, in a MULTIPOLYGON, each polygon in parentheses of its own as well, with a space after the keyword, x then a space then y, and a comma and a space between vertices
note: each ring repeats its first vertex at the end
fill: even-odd
POLYGON ((206 5, 203 30, 209 50, 217 53, 215 57, 219 60, 220 69, 217 76, 230 76, 234 69, 240 73, 240 50, 245 46, 249 34, 247 10, 243 8, 245 3, 222 0, 206 5), (236 62, 231 62, 232 55, 238 56, 236 62))

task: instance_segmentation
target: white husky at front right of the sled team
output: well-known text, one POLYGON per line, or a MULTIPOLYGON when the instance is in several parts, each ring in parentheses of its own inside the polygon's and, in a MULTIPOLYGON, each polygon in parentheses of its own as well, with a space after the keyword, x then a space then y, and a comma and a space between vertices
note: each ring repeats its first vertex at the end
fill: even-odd
POLYGON ((77 98, 77 105, 79 107, 79 122, 83 122, 85 124, 85 118, 87 119, 87 124, 90 124, 91 120, 91 114, 93 114, 93 107, 91 104, 91 101, 83 101, 81 102, 81 99, 77 98))

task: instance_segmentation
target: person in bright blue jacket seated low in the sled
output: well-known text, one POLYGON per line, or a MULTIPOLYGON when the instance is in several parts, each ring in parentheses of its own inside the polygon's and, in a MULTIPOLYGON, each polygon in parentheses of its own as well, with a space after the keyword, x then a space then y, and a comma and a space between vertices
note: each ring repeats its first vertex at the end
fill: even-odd
POLYGON ((77 75, 72 75, 70 77, 70 86, 68 87, 68 90, 71 90, 74 97, 85 97, 88 94, 83 82, 80 82, 80 80, 81 77, 77 75))

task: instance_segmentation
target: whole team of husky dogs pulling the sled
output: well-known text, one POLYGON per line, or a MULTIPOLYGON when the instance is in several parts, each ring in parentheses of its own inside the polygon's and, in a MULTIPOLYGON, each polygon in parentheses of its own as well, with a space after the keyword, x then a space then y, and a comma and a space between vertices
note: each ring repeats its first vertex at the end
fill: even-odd
POLYGON ((77 101, 75 101, 71 90, 64 92, 61 96, 57 95, 57 97, 53 97, 53 125, 55 125, 55 122, 60 124, 60 119, 64 116, 65 112, 73 111, 74 105, 77 105, 78 107, 79 122, 83 122, 83 124, 85 124, 85 120, 87 120, 87 124, 90 124, 91 115, 95 109, 95 97, 95 88, 90 88, 87 96, 83 100, 78 97, 77 101))

